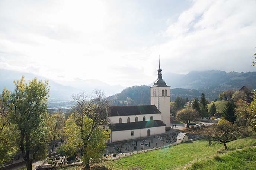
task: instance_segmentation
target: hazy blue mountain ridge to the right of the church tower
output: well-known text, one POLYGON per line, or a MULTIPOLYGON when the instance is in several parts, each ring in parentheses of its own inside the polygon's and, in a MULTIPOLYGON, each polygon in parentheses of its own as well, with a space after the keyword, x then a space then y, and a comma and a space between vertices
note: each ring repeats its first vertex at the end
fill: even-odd
MULTIPOLYGON (((256 72, 225 72, 217 70, 191 71, 188 74, 166 73, 163 80, 171 88, 196 89, 209 100, 218 99, 218 94, 228 89, 239 90, 243 84, 256 89, 256 72)), ((150 84, 151 85, 151 84, 150 84)))

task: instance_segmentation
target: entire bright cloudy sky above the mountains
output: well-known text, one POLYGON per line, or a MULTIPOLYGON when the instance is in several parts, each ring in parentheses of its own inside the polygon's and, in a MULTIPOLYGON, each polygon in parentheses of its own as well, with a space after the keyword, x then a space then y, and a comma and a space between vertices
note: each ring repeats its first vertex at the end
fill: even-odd
POLYGON ((255 9, 255 0, 1 0, 0 69, 122 86, 153 82, 159 55, 163 74, 256 71, 255 9))

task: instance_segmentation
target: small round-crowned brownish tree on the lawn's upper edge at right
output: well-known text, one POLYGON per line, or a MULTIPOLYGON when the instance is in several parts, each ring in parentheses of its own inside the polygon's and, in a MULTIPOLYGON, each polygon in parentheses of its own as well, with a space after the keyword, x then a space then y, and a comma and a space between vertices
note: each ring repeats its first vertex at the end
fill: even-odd
POLYGON ((210 136, 210 141, 214 141, 215 143, 223 143, 225 150, 227 150, 227 144, 230 141, 236 140, 240 134, 239 129, 233 123, 222 119, 218 122, 217 125, 212 129, 210 136))

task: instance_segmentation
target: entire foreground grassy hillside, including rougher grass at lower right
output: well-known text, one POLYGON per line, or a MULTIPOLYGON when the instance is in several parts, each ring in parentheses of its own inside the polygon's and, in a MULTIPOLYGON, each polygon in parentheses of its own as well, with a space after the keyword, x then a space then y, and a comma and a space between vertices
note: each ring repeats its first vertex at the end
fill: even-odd
MULTIPOLYGON (((189 143, 183 143, 176 146, 150 151, 147 153, 135 154, 133 156, 128 156, 115 161, 105 161, 103 163, 97 164, 93 170, 168 170, 168 169, 215 169, 216 166, 219 169, 223 167, 228 167, 231 169, 234 162, 243 164, 242 169, 250 169, 250 167, 255 167, 255 157, 256 152, 253 149, 250 150, 240 150, 245 156, 244 160, 241 157, 240 151, 237 149, 243 149, 248 146, 256 145, 256 137, 247 137, 244 139, 239 139, 232 141, 227 144, 229 151, 224 150, 223 144, 208 146, 208 141, 197 140, 189 143), (236 150, 236 151, 234 151, 236 150), (253 157, 252 160, 248 160, 247 155, 253 157), (219 159, 218 159, 219 157, 219 159), (240 158, 239 158, 240 157, 240 158), (233 162, 228 162, 228 160, 233 162), (239 160, 241 159, 241 160, 239 160), (220 160, 220 161, 218 161, 220 160), (238 161, 239 160, 239 161, 238 161), (251 161, 251 162, 249 162, 251 161), (211 163, 208 165, 207 162, 211 163), (205 167, 205 168, 201 168, 205 167)), ((216 168, 216 169, 218 169, 216 168)), ((64 170, 81 170, 81 166, 69 167, 64 170)))

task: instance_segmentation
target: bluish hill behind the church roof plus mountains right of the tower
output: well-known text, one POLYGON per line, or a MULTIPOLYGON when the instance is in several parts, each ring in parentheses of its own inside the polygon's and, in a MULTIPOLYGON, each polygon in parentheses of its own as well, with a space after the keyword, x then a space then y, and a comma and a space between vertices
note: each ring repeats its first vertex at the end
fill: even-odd
MULTIPOLYGON (((209 101, 218 99, 218 94, 228 89, 239 90, 243 84, 249 89, 256 89, 256 72, 238 73, 217 70, 191 71, 190 73, 166 73, 163 80, 171 86, 170 97, 174 101, 177 96, 193 99, 205 93, 209 101)), ((150 86, 153 83, 150 84, 150 86)), ((113 105, 150 104, 150 86, 132 86, 121 93, 111 96, 113 105), (144 93, 142 93, 144 91, 144 93), (132 94, 132 95, 131 95, 132 94), (144 97, 146 99, 144 99, 144 97)))

